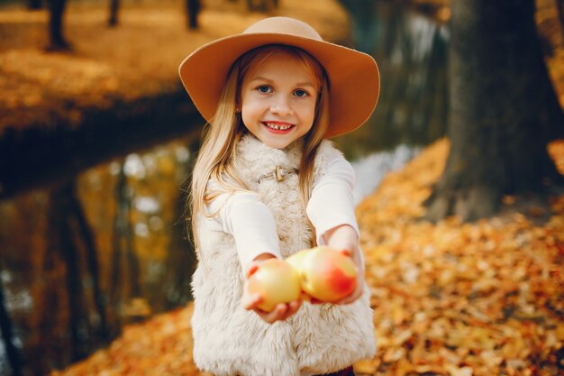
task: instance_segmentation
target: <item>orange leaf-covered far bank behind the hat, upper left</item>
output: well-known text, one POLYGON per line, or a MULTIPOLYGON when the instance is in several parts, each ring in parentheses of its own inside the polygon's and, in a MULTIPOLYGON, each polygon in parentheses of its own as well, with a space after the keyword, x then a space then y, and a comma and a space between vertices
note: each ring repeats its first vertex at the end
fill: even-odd
MULTIPOLYGON (((335 1, 280 3, 272 14, 303 19, 324 39, 350 44, 343 41, 349 20, 335 1)), ((46 50, 47 11, 23 4, 0 7, 0 137, 8 127, 79 126, 88 110, 178 90, 178 65, 190 52, 265 16, 246 11, 245 1, 204 0, 200 27, 189 31, 184 1, 136 0, 122 2, 120 23, 110 28, 108 2, 70 1, 64 33, 73 50, 66 53, 46 50)))

